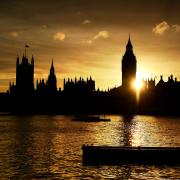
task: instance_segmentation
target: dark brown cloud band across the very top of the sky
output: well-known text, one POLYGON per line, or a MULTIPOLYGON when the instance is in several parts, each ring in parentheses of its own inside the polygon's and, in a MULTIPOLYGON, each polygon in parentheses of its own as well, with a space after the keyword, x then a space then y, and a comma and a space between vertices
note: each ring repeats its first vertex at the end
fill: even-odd
POLYGON ((89 17, 101 24, 128 24, 164 16, 174 20, 179 13, 176 0, 7 0, 0 6, 1 18, 36 25, 72 26, 89 17))

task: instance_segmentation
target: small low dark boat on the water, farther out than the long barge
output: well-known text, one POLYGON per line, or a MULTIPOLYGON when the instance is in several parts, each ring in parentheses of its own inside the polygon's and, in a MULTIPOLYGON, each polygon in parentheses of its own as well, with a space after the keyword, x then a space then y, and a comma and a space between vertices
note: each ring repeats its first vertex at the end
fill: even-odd
POLYGON ((75 116, 72 121, 82 122, 100 122, 100 121, 111 121, 111 119, 101 118, 100 116, 75 116))

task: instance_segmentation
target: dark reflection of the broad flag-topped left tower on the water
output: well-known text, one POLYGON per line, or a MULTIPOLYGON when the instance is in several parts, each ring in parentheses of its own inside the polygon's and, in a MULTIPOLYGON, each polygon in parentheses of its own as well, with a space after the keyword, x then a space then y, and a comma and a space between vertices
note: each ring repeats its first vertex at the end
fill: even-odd
POLYGON ((12 141, 12 167, 14 167, 14 173, 24 171, 24 174, 32 171, 32 164, 29 163, 29 148, 32 145, 32 139, 29 134, 31 131, 31 117, 26 119, 25 117, 15 117, 13 124, 13 141, 12 141), (17 129, 19 131, 17 131, 17 129))

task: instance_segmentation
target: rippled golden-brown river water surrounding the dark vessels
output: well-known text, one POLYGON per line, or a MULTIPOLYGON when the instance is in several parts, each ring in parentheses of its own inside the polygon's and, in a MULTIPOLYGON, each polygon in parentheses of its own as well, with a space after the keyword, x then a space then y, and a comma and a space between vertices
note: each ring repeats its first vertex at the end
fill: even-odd
POLYGON ((180 146, 180 118, 107 116, 83 123, 71 116, 0 116, 1 179, 178 179, 178 166, 83 166, 83 144, 180 146))

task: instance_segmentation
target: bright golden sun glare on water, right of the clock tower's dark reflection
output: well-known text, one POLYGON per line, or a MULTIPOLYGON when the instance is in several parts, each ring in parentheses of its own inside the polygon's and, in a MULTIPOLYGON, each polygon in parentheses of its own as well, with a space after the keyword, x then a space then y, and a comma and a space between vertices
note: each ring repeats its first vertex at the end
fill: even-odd
POLYGON ((179 146, 178 127, 180 126, 178 124, 176 128, 177 120, 173 121, 172 118, 135 116, 132 130, 132 146, 176 146, 176 144, 179 146))

